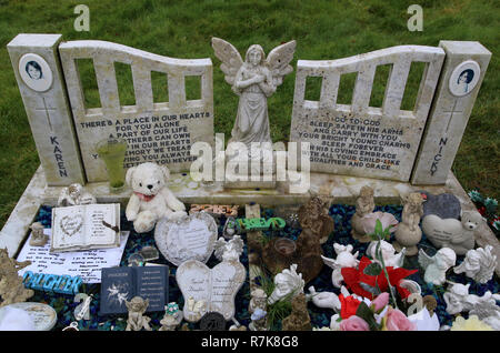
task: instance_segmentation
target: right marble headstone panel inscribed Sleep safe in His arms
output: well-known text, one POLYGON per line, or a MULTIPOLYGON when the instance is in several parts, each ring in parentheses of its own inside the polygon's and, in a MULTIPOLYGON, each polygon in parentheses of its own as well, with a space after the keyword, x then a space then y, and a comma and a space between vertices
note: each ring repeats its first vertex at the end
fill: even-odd
POLYGON ((400 46, 338 60, 297 63, 290 141, 309 142, 311 171, 409 181, 444 59, 441 48, 400 46), (424 62, 413 110, 401 110, 412 62, 424 62), (370 107, 376 72, 391 65, 382 107, 370 107), (357 73, 352 102, 337 101, 344 74, 357 73), (306 100, 308 77, 322 79, 306 100))

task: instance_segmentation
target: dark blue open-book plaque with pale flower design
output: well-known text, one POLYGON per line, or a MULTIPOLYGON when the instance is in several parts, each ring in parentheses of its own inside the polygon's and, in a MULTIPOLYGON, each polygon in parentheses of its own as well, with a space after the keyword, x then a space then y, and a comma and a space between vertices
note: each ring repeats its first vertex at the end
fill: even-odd
POLYGON ((126 301, 149 300, 147 312, 164 311, 169 299, 169 266, 102 269, 100 315, 127 313, 126 301))

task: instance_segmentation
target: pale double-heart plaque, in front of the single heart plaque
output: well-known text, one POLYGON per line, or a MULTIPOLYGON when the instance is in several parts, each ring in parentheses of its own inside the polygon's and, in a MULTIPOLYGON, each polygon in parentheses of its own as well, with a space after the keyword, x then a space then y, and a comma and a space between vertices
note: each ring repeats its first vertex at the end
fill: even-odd
POLYGON ((213 269, 189 260, 176 272, 176 280, 184 297, 183 314, 189 322, 198 322, 208 312, 222 314, 226 321, 234 315, 234 296, 247 276, 239 261, 223 261, 213 269))

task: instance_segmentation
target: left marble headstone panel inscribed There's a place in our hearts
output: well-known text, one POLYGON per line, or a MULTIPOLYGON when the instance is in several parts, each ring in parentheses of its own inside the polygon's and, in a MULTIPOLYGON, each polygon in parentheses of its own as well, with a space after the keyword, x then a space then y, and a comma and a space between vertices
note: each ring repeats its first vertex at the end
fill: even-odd
POLYGON ((59 52, 89 182, 108 179, 104 163, 94 148, 97 142, 110 135, 127 140, 124 168, 156 162, 168 165, 172 172, 189 170, 196 159, 190 154, 194 142, 213 142, 210 59, 168 58, 98 40, 63 42, 59 52), (79 59, 92 59, 100 108, 86 107, 79 59), (133 105, 120 101, 117 62, 130 65, 136 98, 133 105), (164 74, 168 101, 154 101, 153 71, 164 74), (189 78, 200 82, 196 97, 187 93, 186 81, 189 78))

